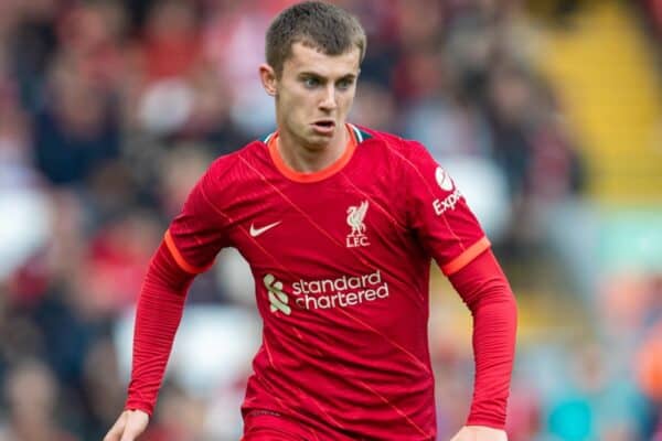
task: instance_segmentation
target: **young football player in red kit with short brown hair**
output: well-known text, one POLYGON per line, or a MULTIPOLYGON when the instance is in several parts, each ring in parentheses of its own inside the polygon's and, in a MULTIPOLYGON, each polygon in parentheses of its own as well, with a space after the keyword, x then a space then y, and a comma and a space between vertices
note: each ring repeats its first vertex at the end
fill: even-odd
POLYGON ((431 258, 473 314, 473 400, 452 440, 506 440, 512 292, 426 149, 345 122, 363 29, 305 2, 275 19, 266 43, 259 75, 278 130, 217 159, 166 233, 138 303, 126 410, 106 440, 146 429, 186 289, 226 246, 250 263, 264 320, 245 441, 434 440, 431 258))

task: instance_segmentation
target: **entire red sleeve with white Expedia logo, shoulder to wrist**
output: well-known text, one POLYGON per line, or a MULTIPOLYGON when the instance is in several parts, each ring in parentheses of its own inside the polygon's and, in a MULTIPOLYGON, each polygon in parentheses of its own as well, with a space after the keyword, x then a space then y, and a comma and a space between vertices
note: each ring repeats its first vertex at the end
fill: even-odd
POLYGON ((515 352, 516 305, 478 218, 448 172, 408 141, 408 224, 473 315, 476 379, 468 423, 502 429, 515 352))

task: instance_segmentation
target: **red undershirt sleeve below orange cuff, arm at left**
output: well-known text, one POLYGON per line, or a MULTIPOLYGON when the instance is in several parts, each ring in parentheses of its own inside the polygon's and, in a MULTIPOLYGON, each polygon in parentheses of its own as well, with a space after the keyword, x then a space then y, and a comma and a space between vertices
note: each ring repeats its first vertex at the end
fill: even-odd
POLYGON ((152 415, 193 277, 178 266, 162 243, 151 260, 138 300, 126 409, 152 415))

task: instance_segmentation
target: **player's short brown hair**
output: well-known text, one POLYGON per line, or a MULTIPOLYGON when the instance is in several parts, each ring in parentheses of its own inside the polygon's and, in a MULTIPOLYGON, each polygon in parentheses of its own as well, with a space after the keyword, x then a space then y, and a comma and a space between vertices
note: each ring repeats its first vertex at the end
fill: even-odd
POLYGON ((266 35, 265 55, 277 75, 282 73, 292 45, 302 43, 327 55, 341 55, 355 46, 363 61, 366 37, 359 20, 334 4, 305 1, 284 10, 274 19, 266 35))

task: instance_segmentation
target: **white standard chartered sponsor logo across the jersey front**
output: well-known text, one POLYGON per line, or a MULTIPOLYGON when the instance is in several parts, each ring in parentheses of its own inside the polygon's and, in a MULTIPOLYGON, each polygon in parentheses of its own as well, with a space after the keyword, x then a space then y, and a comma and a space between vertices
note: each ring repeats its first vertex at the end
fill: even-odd
POLYGON ((293 282, 290 289, 284 287, 282 282, 276 281, 271 275, 265 276, 264 282, 269 291, 271 312, 282 312, 286 315, 291 313, 290 299, 299 309, 327 310, 371 303, 389 295, 388 283, 382 279, 380 270, 361 276, 342 276, 337 279, 300 279, 293 282))

